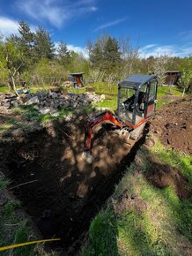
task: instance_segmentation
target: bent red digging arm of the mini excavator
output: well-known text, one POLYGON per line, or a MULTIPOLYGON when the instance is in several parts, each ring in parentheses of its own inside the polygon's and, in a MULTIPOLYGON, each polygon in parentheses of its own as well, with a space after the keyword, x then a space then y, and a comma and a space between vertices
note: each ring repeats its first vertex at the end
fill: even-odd
POLYGON ((85 142, 84 142, 84 151, 85 152, 91 152, 91 146, 92 146, 92 129, 95 125, 100 124, 104 121, 110 121, 112 124, 117 125, 118 127, 122 128, 124 125, 122 123, 122 120, 115 116, 114 113, 107 110, 102 113, 100 113, 97 116, 87 118, 85 120, 85 142))

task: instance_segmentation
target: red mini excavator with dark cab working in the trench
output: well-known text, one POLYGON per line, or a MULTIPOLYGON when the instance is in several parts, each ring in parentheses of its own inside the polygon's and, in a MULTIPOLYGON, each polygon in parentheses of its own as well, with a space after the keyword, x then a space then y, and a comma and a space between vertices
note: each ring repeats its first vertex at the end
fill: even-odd
POLYGON ((114 132, 126 143, 138 139, 147 120, 155 114, 158 79, 155 75, 132 75, 118 84, 117 109, 106 110, 85 120, 84 157, 92 163, 92 132, 103 123, 113 124, 114 132))

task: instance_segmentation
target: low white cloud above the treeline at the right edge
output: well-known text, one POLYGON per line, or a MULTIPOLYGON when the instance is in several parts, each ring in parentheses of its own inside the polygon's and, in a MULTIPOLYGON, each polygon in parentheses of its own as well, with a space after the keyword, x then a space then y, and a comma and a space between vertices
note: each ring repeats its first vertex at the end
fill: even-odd
POLYGON ((148 44, 142 47, 140 50, 140 56, 146 58, 149 56, 191 56, 192 55, 192 44, 190 45, 158 45, 158 44, 148 44))

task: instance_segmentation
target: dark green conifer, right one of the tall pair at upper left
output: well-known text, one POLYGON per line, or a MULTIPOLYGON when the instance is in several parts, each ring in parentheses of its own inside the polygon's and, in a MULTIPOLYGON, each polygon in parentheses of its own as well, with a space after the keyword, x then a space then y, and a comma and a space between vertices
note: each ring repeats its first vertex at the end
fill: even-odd
POLYGON ((55 56, 55 43, 43 27, 39 27, 34 34, 34 51, 37 61, 41 58, 53 59, 55 56))

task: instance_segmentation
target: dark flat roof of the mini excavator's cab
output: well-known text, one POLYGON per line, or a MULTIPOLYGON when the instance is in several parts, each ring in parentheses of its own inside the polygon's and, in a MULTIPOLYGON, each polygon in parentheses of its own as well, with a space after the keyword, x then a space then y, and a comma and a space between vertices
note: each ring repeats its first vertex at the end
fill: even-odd
POLYGON ((123 79, 122 81, 120 81, 119 86, 132 87, 134 89, 137 89, 138 87, 141 87, 146 82, 154 78, 156 78, 155 75, 142 75, 142 74, 132 75, 129 78, 123 79))

